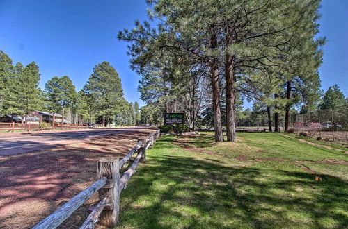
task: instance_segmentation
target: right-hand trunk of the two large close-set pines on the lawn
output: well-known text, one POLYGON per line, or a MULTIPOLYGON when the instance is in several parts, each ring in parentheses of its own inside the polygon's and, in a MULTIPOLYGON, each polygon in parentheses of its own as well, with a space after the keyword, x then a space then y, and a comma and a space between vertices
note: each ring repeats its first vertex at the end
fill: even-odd
POLYGON ((226 78, 226 132, 229 142, 237 142, 235 131, 235 88, 234 74, 232 66, 232 57, 226 56, 225 62, 225 78, 226 78))

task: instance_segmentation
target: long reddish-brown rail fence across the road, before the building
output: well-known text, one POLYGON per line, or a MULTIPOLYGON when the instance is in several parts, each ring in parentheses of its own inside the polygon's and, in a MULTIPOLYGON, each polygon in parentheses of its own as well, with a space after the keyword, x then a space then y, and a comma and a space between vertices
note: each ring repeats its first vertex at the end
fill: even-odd
POLYGON ((15 132, 15 130, 54 130, 54 129, 81 129, 87 128, 88 125, 84 124, 25 124, 25 123, 15 123, 15 122, 0 122, 0 130, 8 130, 10 132, 15 132))

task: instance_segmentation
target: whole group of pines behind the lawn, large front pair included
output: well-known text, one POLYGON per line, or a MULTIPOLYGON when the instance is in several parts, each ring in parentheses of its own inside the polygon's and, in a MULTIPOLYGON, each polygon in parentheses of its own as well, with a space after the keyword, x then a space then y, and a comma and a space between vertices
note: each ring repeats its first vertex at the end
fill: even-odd
POLYGON ((118 34, 143 77, 139 91, 150 113, 142 118, 185 112, 190 127, 212 121, 216 141, 226 126, 235 142, 248 99, 267 110, 270 130, 279 130, 283 113, 286 130, 292 108, 313 109, 319 101, 320 2, 148 0, 152 22, 118 34))

